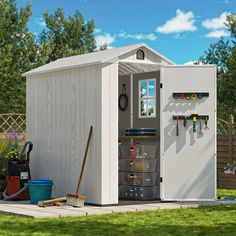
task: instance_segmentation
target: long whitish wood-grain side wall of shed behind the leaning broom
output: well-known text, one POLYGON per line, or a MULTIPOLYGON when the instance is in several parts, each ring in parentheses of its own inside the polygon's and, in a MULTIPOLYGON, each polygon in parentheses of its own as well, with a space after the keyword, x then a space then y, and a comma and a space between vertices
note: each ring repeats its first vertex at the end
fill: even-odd
POLYGON ((81 194, 101 204, 101 67, 27 78, 27 139, 32 177, 52 179, 54 197, 75 192, 90 125, 93 137, 81 194))

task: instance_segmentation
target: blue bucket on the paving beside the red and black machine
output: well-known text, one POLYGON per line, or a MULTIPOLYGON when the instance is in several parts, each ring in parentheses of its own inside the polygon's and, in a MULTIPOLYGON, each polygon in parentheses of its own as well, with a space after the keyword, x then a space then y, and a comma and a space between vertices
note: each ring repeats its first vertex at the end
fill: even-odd
POLYGON ((52 198, 52 180, 29 180, 28 186, 31 204, 52 198))

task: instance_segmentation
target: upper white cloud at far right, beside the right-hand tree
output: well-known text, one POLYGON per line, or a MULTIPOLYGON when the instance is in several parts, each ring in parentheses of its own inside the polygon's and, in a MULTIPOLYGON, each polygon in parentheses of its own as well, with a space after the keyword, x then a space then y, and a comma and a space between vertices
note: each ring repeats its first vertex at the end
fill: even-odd
POLYGON ((226 28, 226 16, 229 15, 228 12, 223 12, 219 17, 206 19, 202 22, 202 26, 209 30, 219 30, 226 28))

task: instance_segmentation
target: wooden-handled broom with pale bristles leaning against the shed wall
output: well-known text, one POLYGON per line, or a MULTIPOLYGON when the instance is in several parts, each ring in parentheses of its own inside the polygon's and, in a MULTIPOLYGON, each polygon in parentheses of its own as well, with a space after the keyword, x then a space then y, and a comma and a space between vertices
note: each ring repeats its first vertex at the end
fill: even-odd
POLYGON ((75 194, 67 194, 67 197, 66 197, 66 204, 70 205, 70 206, 84 207, 84 201, 86 199, 86 196, 80 195, 79 193, 80 193, 80 186, 81 186, 81 182, 82 182, 85 162, 86 162, 86 159, 87 159, 89 144, 90 144, 90 140, 91 140, 91 137, 92 137, 92 132, 93 132, 93 126, 91 126, 90 130, 89 130, 89 136, 88 136, 88 140, 87 140, 87 144, 86 144, 83 164, 82 164, 82 168, 81 168, 81 172, 80 172, 80 176, 79 176, 79 181, 78 181, 76 193, 75 194))

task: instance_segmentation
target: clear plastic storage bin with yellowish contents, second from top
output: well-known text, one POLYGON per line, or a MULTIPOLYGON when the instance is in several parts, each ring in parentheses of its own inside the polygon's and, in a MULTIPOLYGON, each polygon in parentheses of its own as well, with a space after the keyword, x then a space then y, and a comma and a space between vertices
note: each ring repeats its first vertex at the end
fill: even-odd
POLYGON ((120 171, 155 172, 156 168, 157 159, 155 158, 129 158, 119 160, 120 171))

